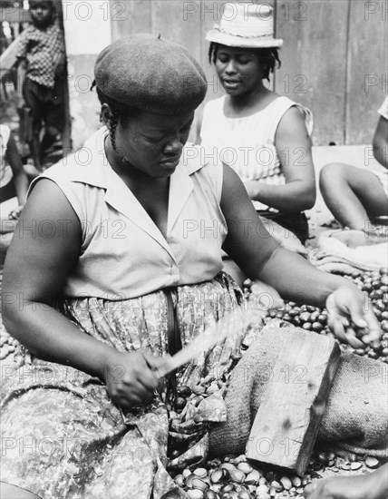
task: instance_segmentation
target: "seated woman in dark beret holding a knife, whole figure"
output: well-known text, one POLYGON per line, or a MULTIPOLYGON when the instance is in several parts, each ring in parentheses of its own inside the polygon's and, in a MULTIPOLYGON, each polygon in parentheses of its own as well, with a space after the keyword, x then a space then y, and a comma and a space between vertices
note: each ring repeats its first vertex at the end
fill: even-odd
POLYGON ((119 40, 95 81, 105 126, 35 179, 5 261, 5 326, 24 347, 1 392, 3 499, 185 497, 167 469, 206 458, 226 380, 260 326, 236 321, 221 345, 158 374, 163 356, 241 310, 222 246, 285 298, 326 304, 352 346, 381 336, 359 289, 245 223, 256 211, 238 175, 184 147, 206 93, 184 47, 119 40))

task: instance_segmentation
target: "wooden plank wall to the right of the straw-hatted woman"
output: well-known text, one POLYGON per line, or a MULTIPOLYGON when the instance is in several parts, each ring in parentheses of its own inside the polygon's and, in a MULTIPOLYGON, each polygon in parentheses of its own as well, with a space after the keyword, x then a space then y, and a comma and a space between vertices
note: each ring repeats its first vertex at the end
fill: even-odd
POLYGON ((369 144, 387 93, 386 2, 276 2, 276 90, 315 116, 316 144, 369 144), (385 11, 384 11, 385 9, 385 11))

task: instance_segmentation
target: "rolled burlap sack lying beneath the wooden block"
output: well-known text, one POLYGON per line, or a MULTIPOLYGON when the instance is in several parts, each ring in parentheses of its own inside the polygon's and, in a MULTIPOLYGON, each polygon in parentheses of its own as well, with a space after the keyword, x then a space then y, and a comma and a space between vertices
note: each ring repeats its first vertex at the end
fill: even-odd
MULTIPOLYGON (((263 329, 235 367, 226 394, 228 419, 209 434, 211 455, 245 452, 271 367, 284 335, 292 330, 263 329)), ((388 366, 371 358, 342 354, 317 441, 327 442, 334 450, 388 457, 387 416, 388 366)))

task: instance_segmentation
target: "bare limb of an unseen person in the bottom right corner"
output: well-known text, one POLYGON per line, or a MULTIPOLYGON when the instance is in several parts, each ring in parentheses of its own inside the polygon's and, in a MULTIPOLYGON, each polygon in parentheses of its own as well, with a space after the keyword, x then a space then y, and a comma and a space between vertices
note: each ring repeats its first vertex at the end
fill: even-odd
POLYGON ((334 476, 305 488, 308 499, 386 499, 388 464, 368 475, 334 476))

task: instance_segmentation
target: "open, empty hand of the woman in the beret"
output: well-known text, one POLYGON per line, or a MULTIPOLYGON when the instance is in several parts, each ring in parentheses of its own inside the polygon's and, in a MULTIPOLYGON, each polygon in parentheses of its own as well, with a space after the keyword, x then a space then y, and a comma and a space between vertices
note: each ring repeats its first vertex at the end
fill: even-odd
POLYGON ((351 347, 364 348, 381 338, 382 330, 369 298, 354 285, 335 289, 326 299, 326 308, 329 328, 351 347))

